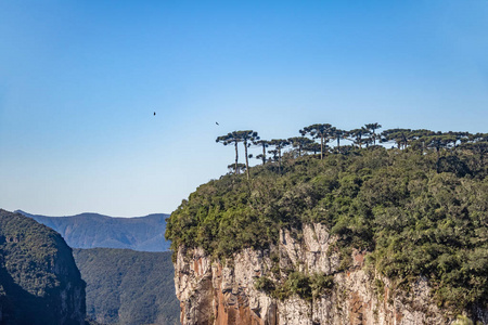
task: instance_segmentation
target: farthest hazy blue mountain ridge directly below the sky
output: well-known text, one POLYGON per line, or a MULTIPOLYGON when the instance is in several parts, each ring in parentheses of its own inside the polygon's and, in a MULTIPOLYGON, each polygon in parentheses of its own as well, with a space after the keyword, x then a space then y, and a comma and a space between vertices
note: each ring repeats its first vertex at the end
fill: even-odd
POLYGON ((73 248, 129 248, 141 251, 166 251, 166 218, 155 213, 137 218, 113 218, 98 213, 81 213, 70 217, 47 217, 15 212, 30 217, 59 232, 73 248))

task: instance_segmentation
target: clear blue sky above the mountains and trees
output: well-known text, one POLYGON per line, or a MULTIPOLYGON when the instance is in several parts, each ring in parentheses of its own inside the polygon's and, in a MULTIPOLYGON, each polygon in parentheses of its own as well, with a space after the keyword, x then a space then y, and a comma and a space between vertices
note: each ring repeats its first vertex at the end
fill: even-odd
POLYGON ((8 210, 170 213, 234 130, 487 121, 488 0, 0 0, 8 210))

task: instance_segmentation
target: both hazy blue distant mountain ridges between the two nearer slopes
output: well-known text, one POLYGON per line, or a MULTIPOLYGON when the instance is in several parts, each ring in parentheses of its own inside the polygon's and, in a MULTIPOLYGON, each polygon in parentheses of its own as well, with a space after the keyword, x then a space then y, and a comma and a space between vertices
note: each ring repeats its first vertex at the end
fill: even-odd
POLYGON ((74 248, 87 284, 90 324, 179 324, 171 252, 167 251, 170 243, 164 238, 169 214, 112 218, 15 212, 56 231, 74 248))

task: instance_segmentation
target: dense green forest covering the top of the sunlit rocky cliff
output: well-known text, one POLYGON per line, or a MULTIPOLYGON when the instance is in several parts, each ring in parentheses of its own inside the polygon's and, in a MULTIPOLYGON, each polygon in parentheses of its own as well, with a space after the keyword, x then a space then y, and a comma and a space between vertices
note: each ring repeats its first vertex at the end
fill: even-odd
MULTIPOLYGON (((288 152, 280 164, 251 168, 249 181, 227 174, 201 185, 169 219, 172 248, 198 246, 229 258, 275 244, 282 227, 299 237, 304 223, 321 222, 337 237, 342 270, 351 248, 363 249, 369 265, 400 286, 426 276, 441 306, 486 306, 486 134, 388 130, 383 139, 398 148, 386 150, 374 145, 381 138, 374 130, 368 138, 354 131, 354 146, 322 145, 320 156, 288 152)), ((292 291, 312 288, 310 278, 295 277, 292 291)), ((277 289, 265 278, 256 286, 277 289)))

